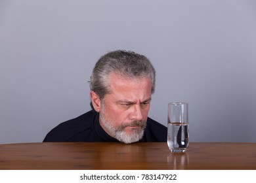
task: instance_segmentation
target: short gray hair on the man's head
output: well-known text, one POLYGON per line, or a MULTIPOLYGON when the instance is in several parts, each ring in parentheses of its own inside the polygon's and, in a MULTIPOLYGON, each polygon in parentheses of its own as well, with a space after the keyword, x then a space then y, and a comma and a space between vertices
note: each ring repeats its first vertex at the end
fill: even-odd
POLYGON ((135 52, 116 50, 102 56, 97 62, 91 75, 91 90, 95 92, 100 100, 110 93, 109 76, 112 73, 125 78, 148 77, 152 82, 151 92, 155 91, 156 71, 146 56, 135 52))

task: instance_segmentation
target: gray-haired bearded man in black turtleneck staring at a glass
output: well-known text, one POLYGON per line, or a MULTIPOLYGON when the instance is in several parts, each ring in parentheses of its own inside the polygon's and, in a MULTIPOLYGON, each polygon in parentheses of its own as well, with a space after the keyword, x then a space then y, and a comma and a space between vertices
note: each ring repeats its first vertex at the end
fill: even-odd
POLYGON ((167 127, 148 118, 155 81, 145 56, 109 52, 91 75, 93 110, 57 125, 43 142, 166 142, 167 127))

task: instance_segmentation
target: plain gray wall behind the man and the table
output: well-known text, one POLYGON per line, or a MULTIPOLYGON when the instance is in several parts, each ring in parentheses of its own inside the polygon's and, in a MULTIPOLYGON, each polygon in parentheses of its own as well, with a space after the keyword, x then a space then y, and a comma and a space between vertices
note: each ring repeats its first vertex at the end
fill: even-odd
POLYGON ((0 143, 41 142, 89 107, 108 51, 156 67, 149 116, 189 103, 190 141, 256 142, 256 1, 0 1, 0 143))

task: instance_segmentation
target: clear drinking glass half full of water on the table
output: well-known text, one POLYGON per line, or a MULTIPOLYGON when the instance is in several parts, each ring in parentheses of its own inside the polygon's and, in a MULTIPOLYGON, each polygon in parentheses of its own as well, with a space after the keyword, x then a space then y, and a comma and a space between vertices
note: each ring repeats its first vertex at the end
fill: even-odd
POLYGON ((167 143, 171 152, 185 152, 188 136, 188 103, 169 103, 167 143))

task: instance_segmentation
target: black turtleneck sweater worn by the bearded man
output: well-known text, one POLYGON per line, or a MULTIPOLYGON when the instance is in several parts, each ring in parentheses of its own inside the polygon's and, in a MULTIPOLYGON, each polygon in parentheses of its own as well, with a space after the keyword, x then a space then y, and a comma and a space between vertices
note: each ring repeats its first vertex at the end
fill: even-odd
MULTIPOLYGON (((148 118, 144 136, 139 142, 166 142, 167 127, 148 118)), ((119 142, 110 137, 98 122, 98 112, 90 110, 54 127, 43 142, 119 142)))

